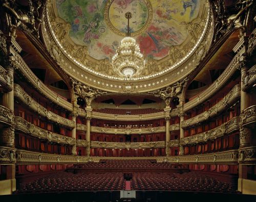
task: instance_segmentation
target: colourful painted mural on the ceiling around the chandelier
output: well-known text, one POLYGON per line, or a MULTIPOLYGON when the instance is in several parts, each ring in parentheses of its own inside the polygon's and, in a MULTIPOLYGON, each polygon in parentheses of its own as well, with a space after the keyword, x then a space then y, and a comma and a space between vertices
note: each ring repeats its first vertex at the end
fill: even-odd
POLYGON ((91 57, 110 59, 127 32, 124 14, 130 11, 130 32, 144 56, 162 59, 170 46, 188 36, 183 22, 197 18, 199 0, 57 0, 58 16, 71 25, 70 38, 86 45, 91 57))

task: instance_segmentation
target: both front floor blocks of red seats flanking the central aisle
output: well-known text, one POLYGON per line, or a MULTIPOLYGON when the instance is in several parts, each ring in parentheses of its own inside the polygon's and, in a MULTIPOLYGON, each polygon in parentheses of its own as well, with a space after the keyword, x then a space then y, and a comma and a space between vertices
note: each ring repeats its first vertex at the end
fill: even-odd
MULTIPOLYGON (((56 172, 20 185, 17 193, 124 190, 123 173, 56 172)), ((166 190, 234 193, 231 184, 207 175, 186 173, 132 173, 132 190, 166 190)))

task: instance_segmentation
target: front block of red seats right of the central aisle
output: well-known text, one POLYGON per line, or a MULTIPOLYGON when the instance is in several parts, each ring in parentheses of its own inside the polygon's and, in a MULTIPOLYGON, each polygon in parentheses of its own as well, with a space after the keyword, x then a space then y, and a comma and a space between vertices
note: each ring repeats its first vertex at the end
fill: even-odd
POLYGON ((228 184, 195 172, 172 173, 134 173, 131 183, 134 190, 203 191, 234 192, 228 184))

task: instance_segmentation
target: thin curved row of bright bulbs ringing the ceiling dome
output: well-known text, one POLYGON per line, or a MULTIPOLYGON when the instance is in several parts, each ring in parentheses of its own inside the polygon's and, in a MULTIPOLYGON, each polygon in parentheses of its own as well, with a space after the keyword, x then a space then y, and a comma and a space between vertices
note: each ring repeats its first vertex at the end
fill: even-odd
POLYGON ((170 70, 174 69, 175 67, 178 67, 180 66, 181 64, 183 64, 186 59, 189 58, 189 56, 191 56, 195 51, 196 51, 196 48, 198 47, 198 45, 201 43, 201 41, 203 40, 204 38, 204 35, 206 33, 206 30, 207 30, 207 27, 208 27, 208 24, 209 24, 209 19, 210 19, 210 7, 208 6, 208 11, 207 11, 207 19, 206 19, 206 23, 205 23, 205 27, 204 27, 204 30, 200 36, 200 38, 198 39, 197 43, 195 44, 195 46, 193 48, 191 48, 190 52, 184 56, 179 62, 175 63, 174 65, 168 67, 167 69, 164 69, 160 72, 157 72, 155 74, 151 74, 151 75, 146 75, 146 76, 143 76, 143 77, 135 77, 135 78, 121 78, 121 77, 112 77, 110 75, 106 75, 106 74, 103 74, 103 73, 99 73, 89 67, 86 67, 85 65, 79 63, 77 60, 75 60, 70 54, 67 53, 67 51, 63 48, 63 46, 61 45, 61 43, 58 41, 58 39, 56 38, 56 35, 54 34, 54 31, 52 29, 52 26, 51 26, 51 23, 50 23, 50 17, 49 17, 49 12, 48 12, 48 7, 46 9, 46 16, 47 16, 47 22, 48 22, 48 25, 50 27, 50 32, 54 38, 54 40, 57 42, 57 44, 60 46, 61 50, 63 51, 63 54, 65 54, 68 58, 70 58, 72 60, 72 62, 74 62, 77 66, 79 66, 80 68, 84 69, 84 70, 87 70, 91 73, 94 73, 95 75, 97 76, 100 76, 102 78, 106 78, 106 79, 113 79, 113 80, 119 80, 119 81, 141 81, 141 80, 146 80, 146 79, 150 79, 150 78, 155 78, 159 75, 162 75, 166 72, 169 72, 170 70))

